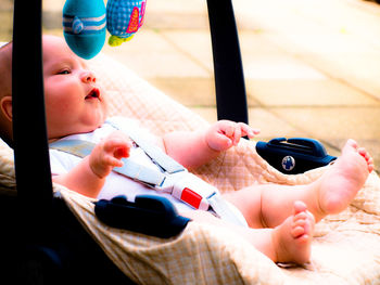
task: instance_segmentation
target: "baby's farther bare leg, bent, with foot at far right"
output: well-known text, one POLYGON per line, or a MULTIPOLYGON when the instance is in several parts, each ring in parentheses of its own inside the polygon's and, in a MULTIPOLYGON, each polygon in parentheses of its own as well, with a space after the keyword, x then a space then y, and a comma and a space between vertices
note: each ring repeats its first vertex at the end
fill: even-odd
POLYGON ((265 184, 225 195, 252 228, 274 228, 287 219, 295 200, 302 200, 319 221, 345 209, 373 169, 369 154, 349 140, 342 155, 318 180, 307 185, 265 184))

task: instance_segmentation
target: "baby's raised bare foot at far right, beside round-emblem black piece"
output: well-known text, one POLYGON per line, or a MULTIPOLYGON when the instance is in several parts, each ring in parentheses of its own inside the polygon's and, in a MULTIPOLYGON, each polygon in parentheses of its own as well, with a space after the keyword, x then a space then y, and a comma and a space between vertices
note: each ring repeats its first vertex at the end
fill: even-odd
POLYGON ((331 169, 316 181, 316 200, 319 208, 314 212, 316 219, 344 210, 372 170, 373 159, 368 152, 358 147, 354 140, 349 140, 331 169))

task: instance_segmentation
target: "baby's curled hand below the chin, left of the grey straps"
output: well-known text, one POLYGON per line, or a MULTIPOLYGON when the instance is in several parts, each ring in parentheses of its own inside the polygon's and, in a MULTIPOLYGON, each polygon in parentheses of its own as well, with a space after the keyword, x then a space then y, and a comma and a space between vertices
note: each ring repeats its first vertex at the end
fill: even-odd
POLYGON ((123 157, 129 156, 132 143, 130 139, 119 131, 111 133, 92 150, 89 161, 92 172, 104 178, 114 167, 122 167, 123 157))

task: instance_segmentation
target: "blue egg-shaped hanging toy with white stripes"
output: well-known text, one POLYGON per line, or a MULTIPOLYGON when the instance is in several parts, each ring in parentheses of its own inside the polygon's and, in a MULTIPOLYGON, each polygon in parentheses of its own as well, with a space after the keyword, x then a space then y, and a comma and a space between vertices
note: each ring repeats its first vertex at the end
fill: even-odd
POLYGON ((105 41, 103 0, 67 0, 63 7, 63 34, 68 47, 80 57, 96 56, 105 41))

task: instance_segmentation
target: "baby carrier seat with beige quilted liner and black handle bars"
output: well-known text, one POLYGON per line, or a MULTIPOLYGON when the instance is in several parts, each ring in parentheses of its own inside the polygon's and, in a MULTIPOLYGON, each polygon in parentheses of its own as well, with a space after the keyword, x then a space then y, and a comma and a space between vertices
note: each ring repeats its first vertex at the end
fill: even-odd
MULTIPOLYGON (((29 16, 34 17, 28 23, 39 23, 40 3, 38 2, 28 1, 21 4, 20 1, 15 1, 14 66, 20 66, 21 62, 25 65, 26 61, 34 61, 30 66, 35 66, 36 69, 40 68, 38 56, 33 59, 23 57, 22 52, 23 47, 27 47, 29 53, 35 49, 35 53, 40 54, 39 40, 36 40, 36 38, 40 37, 40 27, 37 27, 36 30, 29 27, 29 37, 17 34, 20 30, 23 30, 22 24, 18 26, 17 23, 17 15, 20 16, 17 13, 23 12, 23 9, 29 11, 29 16)), ((231 12, 230 1, 218 1, 217 4, 216 1, 208 1, 207 3, 211 10, 211 18, 213 18, 213 15, 215 16, 213 13, 231 12), (221 8, 221 3, 226 4, 226 10, 221 8)), ((24 16, 25 14, 23 13, 24 16)), ((217 18, 225 20, 226 17, 216 16, 217 18)), ((233 20, 233 17, 230 18, 233 20)), ((233 23, 231 28, 232 30, 235 29, 233 23)), ((212 25, 212 31, 213 29, 212 25)), ((220 30, 218 28, 215 29, 220 30)), ((230 39, 229 44, 231 44, 230 39)), ((227 43, 223 46, 226 48, 227 43)), ((237 47, 235 43, 235 48, 237 47)), ((218 53, 220 53, 220 56, 224 54, 214 44, 216 73, 230 72, 233 68, 239 69, 239 64, 238 67, 227 65, 225 69, 221 68, 224 66, 221 64, 223 57, 220 60, 218 53)), ((228 52, 228 54, 231 53, 228 52)), ((239 53, 232 52, 232 54, 239 53)), ((240 59, 231 60, 231 62, 240 63, 240 59)), ((129 81, 129 83, 122 86, 112 81, 118 80, 119 82, 125 80, 124 77, 117 78, 115 74, 127 74, 125 77, 128 78, 134 78, 134 76, 110 59, 100 56, 92 64, 94 67, 98 66, 100 73, 114 69, 112 75, 107 76, 110 81, 106 82, 106 88, 111 92, 122 92, 122 89, 128 90, 128 86, 131 86, 129 87, 130 98, 125 99, 124 103, 129 105, 121 107, 119 102, 114 102, 112 107, 114 114, 118 114, 121 109, 132 109, 132 114, 123 115, 142 116, 145 127, 155 129, 157 132, 169 131, 176 128, 192 129, 200 124, 206 124, 179 104, 164 99, 163 94, 137 78, 135 82, 129 81), (113 68, 106 68, 106 66, 113 66, 113 68), (115 86, 118 86, 118 89, 115 89, 115 86), (139 99, 144 98, 142 93, 147 93, 144 103, 131 101, 134 92, 139 93, 139 99), (154 100, 154 98, 156 99, 154 100), (151 103, 147 104, 147 102, 151 103), (159 109, 156 107, 157 102, 163 102, 160 104, 159 109), (168 104, 169 107, 167 107, 168 104), (148 105, 148 107, 149 105, 155 105, 155 113, 149 113, 148 107, 144 108, 142 105, 148 105), (135 106, 135 109, 131 108, 132 106, 135 106), (167 108, 176 109, 176 112, 167 114, 167 108), (140 115, 136 114, 136 112, 140 112, 140 115), (159 124, 155 120, 156 117, 164 119, 159 124), (179 121, 186 122, 180 124, 179 121)), ((72 280, 75 280, 75 282, 109 282, 110 284, 116 282, 126 284, 193 284, 195 276, 195 283, 198 284, 254 284, 264 282, 268 284, 305 282, 324 284, 324 281, 325 284, 326 281, 333 284, 343 282, 345 284, 350 282, 357 284, 379 280, 380 243, 378 224, 380 198, 379 180, 376 174, 370 177, 353 207, 342 215, 331 218, 331 220, 326 220, 317 229, 315 254, 318 262, 315 263, 315 268, 279 269, 253 248, 246 249, 243 246, 239 246, 241 241, 238 237, 230 236, 230 234, 225 233, 220 229, 212 229, 212 233, 210 229, 199 224, 190 224, 180 236, 174 236, 165 241, 157 237, 142 236, 138 233, 110 229, 102 224, 99 225, 99 221, 97 222, 96 216, 91 212, 92 200, 76 195, 68 190, 61 189, 59 185, 54 185, 55 195, 53 197, 50 169, 49 164, 47 164, 47 140, 45 129, 41 127, 45 126, 43 118, 41 118, 43 116, 38 115, 43 114, 42 89, 39 85, 41 75, 36 73, 34 75, 36 78, 30 77, 28 85, 25 82, 17 83, 17 78, 20 78, 17 76, 18 70, 14 68, 13 95, 15 101, 18 92, 27 93, 34 90, 36 96, 29 96, 29 99, 34 99, 30 102, 26 102, 23 98, 23 102, 15 103, 14 106, 17 197, 11 191, 12 183, 13 186, 15 184, 14 174, 10 174, 12 172, 10 169, 13 167, 10 150, 1 148, 4 152, 2 155, 2 160, 4 161, 2 167, 4 169, 2 171, 4 194, 0 199, 1 217, 3 217, 1 221, 4 224, 3 229, 7 229, 4 234, 2 234, 4 248, 2 261, 4 263, 3 268, 7 269, 4 270, 7 275, 13 278, 14 276, 21 276, 21 281, 24 284, 56 284, 72 280), (36 86, 34 87, 34 85, 36 86), (28 88, 27 91, 23 89, 26 87, 28 88), (40 98, 38 101, 36 100, 37 95, 40 98), (34 107, 35 105, 36 107, 34 107), (37 115, 34 114, 35 116, 31 117, 28 114, 28 109, 37 109, 35 112, 37 115), (23 119, 23 115, 26 118, 23 119), (25 129, 25 126, 38 127, 30 130, 33 133, 28 133, 28 128, 25 129), (36 134, 36 131, 39 134, 36 134), (30 138, 34 139, 30 140, 30 138), (30 150, 34 150, 31 154, 30 150), (33 161, 31 166, 30 161, 33 161), (30 181, 33 181, 31 185, 30 181), (117 234, 121 237, 112 239, 111 236, 117 234), (220 236, 217 236, 218 233, 220 233, 220 236), (101 239, 103 238, 109 239, 102 243, 101 239), (360 242, 360 245, 357 245, 357 241, 363 242, 360 242), (192 250, 185 247, 183 243, 190 244, 188 246, 192 250), (337 244, 340 244, 340 246, 337 246, 337 244), (123 257, 123 254, 125 254, 123 251, 124 247, 128 248, 126 257, 123 257), (115 250, 115 248, 121 251, 115 250), (188 255, 188 258, 183 258, 183 252, 188 255), (325 259, 329 261, 324 263, 321 260, 325 259), (179 260, 182 261, 180 262, 179 260)), ((240 90, 242 90, 240 93, 244 94, 242 73, 235 72, 233 74, 239 78, 232 81, 230 77, 229 80, 218 80, 224 75, 216 74, 216 85, 238 82, 237 85, 240 85, 240 90)), ((223 90, 228 90, 228 88, 216 88, 218 94, 223 90)), ((232 87, 232 90, 236 91, 237 87, 232 87)), ((244 99, 242 101, 243 104, 238 105, 242 105, 243 111, 239 109, 235 113, 220 111, 219 118, 246 120, 246 118, 233 117, 233 114, 239 114, 239 116, 246 114, 244 99)), ((223 103, 221 105, 225 107, 231 104, 223 103)), ((216 184, 220 190, 228 191, 240 189, 253 181, 256 181, 256 183, 307 183, 322 171, 322 169, 318 169, 301 176, 283 176, 255 154, 252 143, 243 142, 237 150, 228 152, 225 157, 218 157, 211 165, 197 170, 197 174, 216 184), (212 173, 215 172, 215 168, 219 169, 219 173, 223 172, 225 174, 214 177, 212 173), (244 170, 241 171, 242 169, 244 170), (227 174, 227 172, 231 173, 227 174)))

